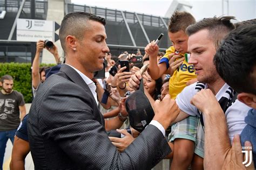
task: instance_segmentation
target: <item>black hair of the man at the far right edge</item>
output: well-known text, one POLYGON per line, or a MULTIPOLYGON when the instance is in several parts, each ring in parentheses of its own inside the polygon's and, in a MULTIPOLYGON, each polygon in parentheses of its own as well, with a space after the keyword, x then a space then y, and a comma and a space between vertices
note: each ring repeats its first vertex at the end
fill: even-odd
POLYGON ((238 93, 256 95, 256 25, 230 32, 214 56, 222 79, 238 93))

